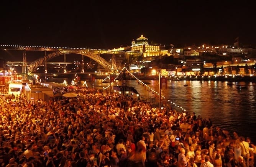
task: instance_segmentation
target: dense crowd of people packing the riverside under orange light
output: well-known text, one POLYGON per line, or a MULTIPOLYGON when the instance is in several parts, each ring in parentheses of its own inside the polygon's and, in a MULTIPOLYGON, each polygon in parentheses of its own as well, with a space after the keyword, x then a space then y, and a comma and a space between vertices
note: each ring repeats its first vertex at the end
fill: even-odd
POLYGON ((75 93, 0 95, 0 167, 254 167, 250 138, 210 118, 114 92, 75 93))

